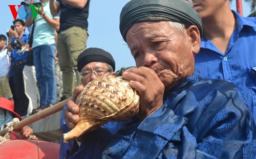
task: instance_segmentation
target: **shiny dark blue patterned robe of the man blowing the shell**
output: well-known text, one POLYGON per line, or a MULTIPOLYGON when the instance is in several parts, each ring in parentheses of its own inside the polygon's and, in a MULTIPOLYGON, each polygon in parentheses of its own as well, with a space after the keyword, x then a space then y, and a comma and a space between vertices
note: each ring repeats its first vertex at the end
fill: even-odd
POLYGON ((71 158, 255 158, 255 130, 237 87, 196 71, 165 92, 156 112, 115 135, 92 131, 71 158))

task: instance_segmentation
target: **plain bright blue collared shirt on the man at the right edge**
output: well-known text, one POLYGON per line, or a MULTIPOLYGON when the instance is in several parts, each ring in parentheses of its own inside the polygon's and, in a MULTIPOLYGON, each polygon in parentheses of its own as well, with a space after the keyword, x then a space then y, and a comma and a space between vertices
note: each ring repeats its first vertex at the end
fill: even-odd
POLYGON ((222 79, 241 88, 256 123, 256 18, 242 17, 234 11, 233 14, 237 28, 230 37, 226 52, 202 38, 200 52, 195 56, 195 67, 203 78, 222 79))

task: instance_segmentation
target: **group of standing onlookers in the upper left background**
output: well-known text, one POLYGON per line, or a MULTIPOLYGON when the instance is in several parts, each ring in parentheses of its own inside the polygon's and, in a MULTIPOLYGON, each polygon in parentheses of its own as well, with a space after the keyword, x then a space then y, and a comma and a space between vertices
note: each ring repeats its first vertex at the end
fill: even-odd
MULTIPOLYGON (((36 3, 26 0, 20 4, 36 3)), ((74 86, 81 84, 76 60, 86 48, 90 1, 40 3, 35 6, 36 18, 16 19, 8 35, 1 35, 1 96, 14 102, 20 116, 33 115, 71 97, 74 86)))

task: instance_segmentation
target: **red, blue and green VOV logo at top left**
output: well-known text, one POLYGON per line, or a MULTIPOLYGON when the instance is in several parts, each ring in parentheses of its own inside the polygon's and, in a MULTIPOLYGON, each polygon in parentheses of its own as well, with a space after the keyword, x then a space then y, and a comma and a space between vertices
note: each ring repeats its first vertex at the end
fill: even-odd
POLYGON ((36 10, 36 5, 28 5, 28 6, 22 6, 22 5, 8 5, 10 7, 10 10, 12 12, 13 19, 17 18, 17 15, 20 17, 20 19, 26 20, 33 15, 33 18, 36 19, 38 10, 41 7, 41 5, 37 5, 38 9, 36 10), (16 6, 18 6, 18 9, 16 10, 16 6))

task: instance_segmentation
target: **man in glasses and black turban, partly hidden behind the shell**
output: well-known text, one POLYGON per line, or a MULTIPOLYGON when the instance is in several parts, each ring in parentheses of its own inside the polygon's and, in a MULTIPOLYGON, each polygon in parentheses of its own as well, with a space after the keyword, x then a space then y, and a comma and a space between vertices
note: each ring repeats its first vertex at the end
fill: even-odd
MULTIPOLYGON (((91 47, 84 50, 77 59, 77 68, 81 74, 81 83, 83 86, 86 86, 90 81, 94 80, 94 78, 98 76, 104 75, 114 75, 115 72, 115 60, 111 56, 111 54, 103 49, 91 47)), ((82 89, 83 87, 77 87, 76 89, 82 89)), ((66 106, 63 109, 61 115, 61 133, 68 133, 70 128, 66 125, 64 121, 64 112, 66 110, 66 106)), ((115 122, 114 122, 115 123, 115 122)), ((114 127, 115 124, 110 123, 106 126, 114 127)), ((73 142, 63 143, 63 138, 61 138, 60 143, 60 158, 66 158, 70 153, 71 148, 73 146, 73 142)))

